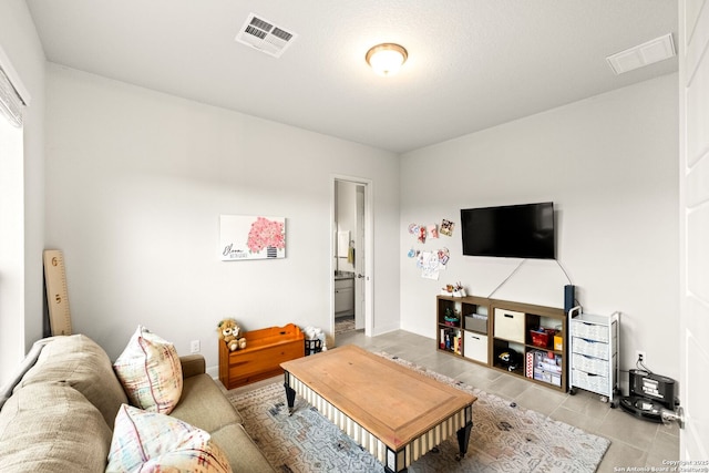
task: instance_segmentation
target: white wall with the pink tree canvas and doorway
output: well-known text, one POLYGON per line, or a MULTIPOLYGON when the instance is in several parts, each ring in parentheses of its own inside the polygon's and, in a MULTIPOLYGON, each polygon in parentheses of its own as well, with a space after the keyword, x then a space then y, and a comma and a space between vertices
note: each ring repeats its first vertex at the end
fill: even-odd
POLYGON ((374 332, 398 327, 395 155, 54 64, 47 115, 48 244, 112 358, 138 323, 213 370, 224 317, 329 330, 335 174, 373 183, 374 332), (220 261, 220 214, 286 217, 286 258, 220 261))

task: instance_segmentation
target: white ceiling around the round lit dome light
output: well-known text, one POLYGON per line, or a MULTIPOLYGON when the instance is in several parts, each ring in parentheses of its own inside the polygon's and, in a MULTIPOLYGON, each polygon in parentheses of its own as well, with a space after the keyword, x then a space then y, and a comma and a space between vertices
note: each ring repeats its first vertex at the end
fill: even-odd
POLYGON ((677 71, 606 56, 667 33, 676 0, 27 0, 49 61, 405 152, 677 71), (249 13, 298 34, 235 41, 249 13), (409 51, 376 75, 380 42, 409 51))

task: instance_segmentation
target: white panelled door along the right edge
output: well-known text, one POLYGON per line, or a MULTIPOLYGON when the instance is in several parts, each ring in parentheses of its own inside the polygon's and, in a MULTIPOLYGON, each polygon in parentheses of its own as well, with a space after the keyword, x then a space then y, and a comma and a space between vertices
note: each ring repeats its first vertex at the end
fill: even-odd
MULTIPOLYGON (((679 2, 680 460, 709 460, 709 2, 679 2)), ((697 462, 697 463, 695 463, 697 462)), ((690 470, 687 470, 690 471, 690 470)), ((699 471, 699 470, 696 470, 699 471)))

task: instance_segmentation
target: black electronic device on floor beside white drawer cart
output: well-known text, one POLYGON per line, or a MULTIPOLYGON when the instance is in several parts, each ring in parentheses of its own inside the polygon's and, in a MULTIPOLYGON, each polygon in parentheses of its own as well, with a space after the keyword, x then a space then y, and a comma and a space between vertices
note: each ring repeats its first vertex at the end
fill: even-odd
MULTIPOLYGON (((620 399, 620 408, 639 419, 661 423, 679 405, 675 380, 645 370, 630 370, 630 395, 620 399)), ((669 415, 671 417, 671 415, 669 415)))

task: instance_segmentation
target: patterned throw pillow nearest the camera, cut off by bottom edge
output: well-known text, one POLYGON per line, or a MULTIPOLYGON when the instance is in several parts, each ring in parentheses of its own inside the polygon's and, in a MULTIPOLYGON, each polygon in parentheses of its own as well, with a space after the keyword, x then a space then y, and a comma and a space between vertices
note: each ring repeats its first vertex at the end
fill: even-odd
POLYGON ((119 410, 106 472, 232 472, 209 434, 172 417, 126 404, 119 410))

